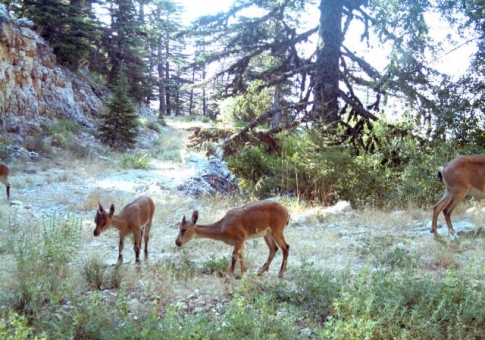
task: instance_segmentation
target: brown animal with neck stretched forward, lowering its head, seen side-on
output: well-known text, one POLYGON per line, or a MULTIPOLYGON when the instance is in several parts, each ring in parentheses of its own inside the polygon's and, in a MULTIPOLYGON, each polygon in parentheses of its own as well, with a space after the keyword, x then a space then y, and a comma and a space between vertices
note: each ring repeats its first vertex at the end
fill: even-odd
POLYGON ((289 214, 288 210, 281 204, 274 201, 251 203, 241 208, 229 210, 221 220, 207 225, 197 225, 198 218, 199 213, 197 211, 193 212, 190 222, 185 219, 185 216, 183 217, 180 232, 175 241, 177 246, 181 247, 197 237, 210 238, 233 245, 232 263, 229 271, 229 275, 232 276, 238 259, 241 263, 241 274, 246 271, 243 256, 245 241, 250 238, 264 237, 269 248, 269 256, 258 274, 261 275, 268 270, 279 246, 283 251, 283 262, 279 277, 284 276, 290 246, 285 241, 283 229, 288 224, 289 214))

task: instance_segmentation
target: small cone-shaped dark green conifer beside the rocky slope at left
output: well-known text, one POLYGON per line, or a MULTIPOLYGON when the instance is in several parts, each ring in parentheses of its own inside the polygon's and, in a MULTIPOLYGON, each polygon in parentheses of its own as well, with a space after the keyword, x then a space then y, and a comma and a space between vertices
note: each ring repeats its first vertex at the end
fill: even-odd
POLYGON ((102 143, 115 150, 126 150, 136 143, 138 115, 129 96, 128 78, 122 68, 113 94, 107 101, 107 111, 100 116, 98 126, 102 143))

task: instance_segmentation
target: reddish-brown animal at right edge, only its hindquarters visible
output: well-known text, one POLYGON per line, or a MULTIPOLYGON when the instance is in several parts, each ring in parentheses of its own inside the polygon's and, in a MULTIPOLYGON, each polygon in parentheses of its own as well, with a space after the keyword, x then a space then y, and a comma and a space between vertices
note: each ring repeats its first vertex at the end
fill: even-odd
MULTIPOLYGON (((438 236, 438 215, 443 211, 448 232, 455 234, 451 224, 451 213, 466 196, 485 198, 485 156, 460 156, 449 163, 438 173, 438 179, 446 186, 446 192, 441 200, 433 207, 431 231, 438 236)), ((477 230, 479 233, 481 228, 477 230)))

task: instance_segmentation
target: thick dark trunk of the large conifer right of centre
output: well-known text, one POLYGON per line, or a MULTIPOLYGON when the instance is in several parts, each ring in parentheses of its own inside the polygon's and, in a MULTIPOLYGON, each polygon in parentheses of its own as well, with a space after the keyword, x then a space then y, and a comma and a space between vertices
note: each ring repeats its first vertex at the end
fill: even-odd
POLYGON ((343 0, 321 0, 320 30, 315 65, 313 116, 321 123, 339 121, 339 60, 343 42, 343 0))

